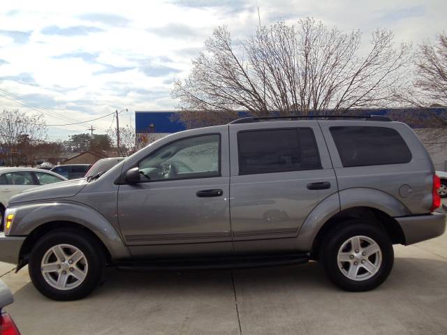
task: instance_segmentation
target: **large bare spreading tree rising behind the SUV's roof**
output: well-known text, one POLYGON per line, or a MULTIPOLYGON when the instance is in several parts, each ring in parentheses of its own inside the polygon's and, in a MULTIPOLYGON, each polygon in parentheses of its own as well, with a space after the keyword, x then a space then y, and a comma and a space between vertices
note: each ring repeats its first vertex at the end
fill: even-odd
POLYGON ((218 27, 193 59, 189 77, 175 82, 173 97, 180 110, 200 111, 199 119, 203 112, 290 115, 393 105, 411 50, 395 47, 393 39, 390 31, 374 31, 360 56, 360 31, 346 33, 312 18, 260 27, 237 43, 218 27))

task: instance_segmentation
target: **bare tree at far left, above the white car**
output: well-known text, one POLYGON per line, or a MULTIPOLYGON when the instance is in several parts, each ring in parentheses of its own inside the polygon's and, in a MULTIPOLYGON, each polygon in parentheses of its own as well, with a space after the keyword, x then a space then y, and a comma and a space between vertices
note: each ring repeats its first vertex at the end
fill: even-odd
POLYGON ((31 154, 27 151, 30 144, 43 142, 46 136, 43 114, 28 115, 19 110, 3 110, 0 113, 0 147, 10 165, 19 164, 20 156, 31 154))

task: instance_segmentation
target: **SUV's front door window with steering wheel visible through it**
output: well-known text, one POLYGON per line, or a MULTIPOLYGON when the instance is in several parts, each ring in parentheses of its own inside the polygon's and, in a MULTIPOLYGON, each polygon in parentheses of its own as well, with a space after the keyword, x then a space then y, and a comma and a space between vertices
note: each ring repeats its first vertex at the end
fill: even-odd
POLYGON ((138 165, 150 180, 217 177, 219 135, 203 135, 172 142, 147 156, 138 165))

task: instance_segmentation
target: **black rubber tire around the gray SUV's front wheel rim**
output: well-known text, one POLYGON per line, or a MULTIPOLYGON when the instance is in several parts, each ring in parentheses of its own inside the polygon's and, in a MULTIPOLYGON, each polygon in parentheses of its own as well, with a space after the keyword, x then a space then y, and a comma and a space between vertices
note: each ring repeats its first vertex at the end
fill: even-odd
MULTIPOLYGON (((82 230, 61 229, 45 234, 36 242, 31 251, 28 269, 34 286, 45 297, 53 300, 68 301, 82 299, 98 286, 103 277, 105 263, 103 250, 93 237, 86 232, 82 232, 82 230), (80 285, 75 288, 68 290, 54 288, 50 283, 47 283, 42 274, 41 262, 45 253, 58 244, 68 244, 78 248, 87 259, 87 274, 85 274, 85 278, 80 285)), ((74 277, 71 278, 73 278, 73 281, 76 280, 74 277)))

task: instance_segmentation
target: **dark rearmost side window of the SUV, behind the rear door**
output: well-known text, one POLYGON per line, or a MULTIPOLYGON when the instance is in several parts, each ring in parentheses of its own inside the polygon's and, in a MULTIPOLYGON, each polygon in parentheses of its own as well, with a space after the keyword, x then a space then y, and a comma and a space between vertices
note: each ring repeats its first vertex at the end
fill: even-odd
POLYGON ((330 127, 344 167, 408 163, 411 152, 399 133, 386 127, 330 127))

